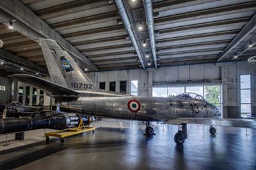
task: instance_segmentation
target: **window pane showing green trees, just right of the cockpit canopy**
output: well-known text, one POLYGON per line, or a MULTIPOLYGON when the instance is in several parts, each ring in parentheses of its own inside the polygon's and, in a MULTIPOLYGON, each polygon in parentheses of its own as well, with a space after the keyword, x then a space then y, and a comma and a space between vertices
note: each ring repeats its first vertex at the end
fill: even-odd
POLYGON ((205 86, 204 98, 210 104, 220 104, 220 86, 205 86))

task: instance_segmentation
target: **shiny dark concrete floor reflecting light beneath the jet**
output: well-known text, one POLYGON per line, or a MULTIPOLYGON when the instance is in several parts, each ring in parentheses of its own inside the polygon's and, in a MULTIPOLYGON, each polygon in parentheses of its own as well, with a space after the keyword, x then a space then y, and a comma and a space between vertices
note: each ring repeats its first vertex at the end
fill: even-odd
POLYGON ((0 151, 0 169, 256 169, 256 130, 189 125, 188 139, 177 146, 176 126, 154 124, 145 137, 137 121, 104 120, 94 134, 60 143, 34 143, 0 151), (122 128, 119 128, 122 127, 122 128))

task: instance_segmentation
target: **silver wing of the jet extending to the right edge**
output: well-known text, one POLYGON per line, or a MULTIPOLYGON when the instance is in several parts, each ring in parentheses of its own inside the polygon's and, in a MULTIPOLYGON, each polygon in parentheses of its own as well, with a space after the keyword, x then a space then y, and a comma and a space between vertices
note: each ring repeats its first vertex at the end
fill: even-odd
POLYGON ((164 121, 170 125, 193 123, 202 125, 216 125, 223 127, 256 128, 256 120, 253 119, 220 119, 220 118, 174 118, 164 121))

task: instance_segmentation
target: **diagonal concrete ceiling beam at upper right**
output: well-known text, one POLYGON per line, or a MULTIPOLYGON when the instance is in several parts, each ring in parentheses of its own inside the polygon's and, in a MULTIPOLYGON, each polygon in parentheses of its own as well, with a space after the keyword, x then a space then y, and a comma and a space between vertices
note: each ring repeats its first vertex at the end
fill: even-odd
POLYGON ((237 36, 230 42, 227 47, 221 52, 217 61, 222 61, 227 56, 228 52, 230 52, 234 47, 236 47, 240 42, 244 40, 252 31, 256 29, 256 13, 253 15, 252 19, 241 29, 241 31, 237 34, 237 36))

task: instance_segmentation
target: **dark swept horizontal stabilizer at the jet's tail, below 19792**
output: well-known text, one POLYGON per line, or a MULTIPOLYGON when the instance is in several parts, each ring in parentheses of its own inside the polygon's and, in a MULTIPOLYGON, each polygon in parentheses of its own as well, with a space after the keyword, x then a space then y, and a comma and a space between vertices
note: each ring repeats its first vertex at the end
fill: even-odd
POLYGON ((51 81, 47 81, 34 75, 17 73, 9 75, 9 77, 16 79, 17 81, 24 82, 25 84, 35 88, 42 89, 42 91, 45 91, 47 95, 63 102, 70 102, 72 100, 76 100, 79 97, 79 93, 77 91, 65 88, 59 84, 55 84, 51 81))

